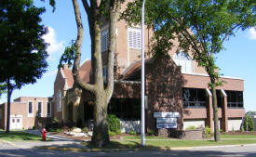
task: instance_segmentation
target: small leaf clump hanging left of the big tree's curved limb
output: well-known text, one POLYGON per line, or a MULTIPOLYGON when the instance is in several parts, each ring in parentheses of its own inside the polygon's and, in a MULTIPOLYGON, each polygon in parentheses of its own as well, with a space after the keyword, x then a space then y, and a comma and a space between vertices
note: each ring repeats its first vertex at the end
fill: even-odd
POLYGON ((70 46, 65 47, 58 68, 61 68, 63 63, 67 63, 69 66, 73 65, 75 55, 78 55, 78 52, 76 51, 75 41, 72 40, 70 46))

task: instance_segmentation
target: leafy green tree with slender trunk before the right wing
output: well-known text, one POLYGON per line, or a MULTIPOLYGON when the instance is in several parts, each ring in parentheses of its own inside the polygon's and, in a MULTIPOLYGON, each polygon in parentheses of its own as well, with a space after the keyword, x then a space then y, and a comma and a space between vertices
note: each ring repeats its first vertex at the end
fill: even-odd
MULTIPOLYGON (((121 19, 141 22, 141 0, 128 4, 121 19)), ((192 52, 209 74, 214 112, 214 139, 220 141, 216 86, 222 85, 214 54, 238 30, 255 27, 255 0, 147 0, 146 24, 155 32, 153 54, 167 53, 174 40, 177 51, 192 52)))

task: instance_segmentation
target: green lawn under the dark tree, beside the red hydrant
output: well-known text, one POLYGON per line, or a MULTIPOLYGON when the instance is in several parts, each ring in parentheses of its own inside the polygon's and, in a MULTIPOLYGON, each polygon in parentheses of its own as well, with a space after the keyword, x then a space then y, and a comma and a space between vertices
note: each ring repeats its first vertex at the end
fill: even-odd
MULTIPOLYGON (((0 139, 7 141, 28 141, 28 140, 42 140, 41 136, 35 136, 23 131, 11 131, 10 133, 0 132, 0 139)), ((47 138, 47 140, 50 140, 47 138)))

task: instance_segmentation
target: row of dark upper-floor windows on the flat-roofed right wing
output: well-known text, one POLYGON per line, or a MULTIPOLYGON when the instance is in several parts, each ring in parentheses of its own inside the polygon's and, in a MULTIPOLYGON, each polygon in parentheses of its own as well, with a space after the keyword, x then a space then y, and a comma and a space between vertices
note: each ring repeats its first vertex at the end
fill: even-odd
MULTIPOLYGON (((243 92, 241 91, 225 91, 227 95, 227 107, 228 108, 243 108, 243 92)), ((222 107, 221 90, 216 90, 217 105, 222 107)), ((183 88, 182 89, 182 101, 184 108, 200 108, 206 107, 206 89, 199 88, 183 88)))

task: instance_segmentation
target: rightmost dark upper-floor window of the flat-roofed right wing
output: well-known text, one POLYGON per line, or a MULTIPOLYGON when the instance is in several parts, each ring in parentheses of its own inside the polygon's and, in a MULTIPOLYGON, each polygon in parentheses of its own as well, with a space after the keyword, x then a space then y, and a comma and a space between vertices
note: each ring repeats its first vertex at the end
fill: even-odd
POLYGON ((227 95, 227 107, 228 108, 243 108, 243 92, 226 90, 227 95))

